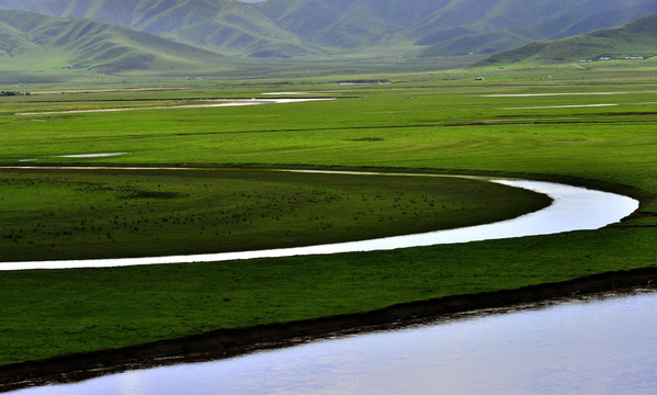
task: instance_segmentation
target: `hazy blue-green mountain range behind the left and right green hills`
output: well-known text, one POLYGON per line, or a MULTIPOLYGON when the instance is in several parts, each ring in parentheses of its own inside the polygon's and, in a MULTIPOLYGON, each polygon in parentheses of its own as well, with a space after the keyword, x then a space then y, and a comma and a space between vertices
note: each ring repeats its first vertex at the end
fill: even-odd
POLYGON ((251 57, 496 53, 657 12, 654 0, 0 0, 0 7, 251 57))

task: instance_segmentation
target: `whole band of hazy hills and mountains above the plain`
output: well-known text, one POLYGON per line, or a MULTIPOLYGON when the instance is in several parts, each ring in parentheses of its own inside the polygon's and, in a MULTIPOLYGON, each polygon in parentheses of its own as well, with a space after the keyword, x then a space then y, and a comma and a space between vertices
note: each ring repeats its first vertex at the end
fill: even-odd
POLYGON ((656 52, 653 12, 654 0, 0 0, 0 70, 12 71, 0 80, 64 69, 271 76, 301 65, 295 75, 316 75, 464 66, 494 53, 484 64, 643 55, 656 52), (454 56, 471 53, 479 56, 454 56))

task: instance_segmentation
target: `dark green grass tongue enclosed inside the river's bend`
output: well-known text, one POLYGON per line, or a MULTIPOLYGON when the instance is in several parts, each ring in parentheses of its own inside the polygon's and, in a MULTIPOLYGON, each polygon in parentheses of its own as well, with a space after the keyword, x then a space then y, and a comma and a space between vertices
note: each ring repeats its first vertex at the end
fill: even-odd
POLYGON ((478 180, 230 169, 0 169, 0 264, 360 240, 491 223, 550 204, 478 180))

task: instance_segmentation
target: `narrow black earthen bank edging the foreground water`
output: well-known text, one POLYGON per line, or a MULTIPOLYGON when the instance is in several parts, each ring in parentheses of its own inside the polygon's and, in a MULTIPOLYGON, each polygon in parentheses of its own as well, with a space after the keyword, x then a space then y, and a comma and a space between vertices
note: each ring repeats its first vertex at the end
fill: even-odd
POLYGON ((0 392, 34 385, 87 380, 126 370, 200 362, 249 351, 292 346, 359 329, 380 329, 428 318, 485 308, 545 302, 553 298, 627 289, 657 282, 657 268, 592 274, 557 283, 523 286, 480 294, 446 296, 404 303, 383 309, 270 324, 245 329, 220 329, 171 340, 31 361, 0 366, 0 392))

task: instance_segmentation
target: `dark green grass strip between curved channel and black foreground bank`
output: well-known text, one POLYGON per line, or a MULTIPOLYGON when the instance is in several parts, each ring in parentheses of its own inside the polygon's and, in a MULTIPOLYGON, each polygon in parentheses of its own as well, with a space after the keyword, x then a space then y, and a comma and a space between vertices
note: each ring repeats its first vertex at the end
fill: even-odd
POLYGON ((655 263, 654 229, 399 251, 1 274, 0 363, 655 263))

